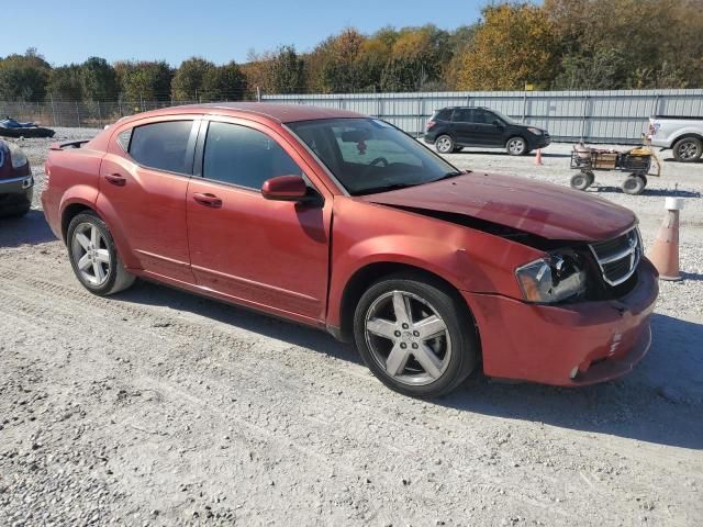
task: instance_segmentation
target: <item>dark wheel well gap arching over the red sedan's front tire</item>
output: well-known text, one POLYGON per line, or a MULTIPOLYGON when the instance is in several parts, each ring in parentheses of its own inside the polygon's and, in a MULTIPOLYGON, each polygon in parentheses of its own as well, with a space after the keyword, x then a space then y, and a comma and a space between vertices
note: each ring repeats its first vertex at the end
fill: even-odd
POLYGON ((480 330, 478 327, 478 323, 476 322, 476 317, 473 316, 473 311, 471 306, 467 303, 466 299, 459 293, 459 290, 449 280, 440 277, 436 272, 428 271, 427 269, 423 269, 422 267, 413 266, 411 264, 405 262, 397 262, 397 261, 375 261, 365 265, 364 267, 357 269, 354 274, 349 277, 347 280, 344 290, 342 292, 341 301, 339 301, 339 330, 338 337, 344 341, 353 340, 354 335, 354 313, 356 311, 356 306, 361 299, 361 295, 368 288, 379 281, 384 277, 390 277, 393 274, 406 274, 410 277, 415 277, 424 282, 431 283, 435 287, 446 290, 455 301, 466 307, 466 315, 468 317, 469 323, 473 325, 476 328, 477 339, 479 341, 479 356, 481 354, 480 349, 480 330))

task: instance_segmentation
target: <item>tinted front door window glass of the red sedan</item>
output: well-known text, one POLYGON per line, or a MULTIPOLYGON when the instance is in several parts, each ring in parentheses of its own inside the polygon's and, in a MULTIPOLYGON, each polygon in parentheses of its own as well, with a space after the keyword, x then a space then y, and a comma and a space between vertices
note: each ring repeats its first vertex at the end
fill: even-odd
POLYGON ((258 130, 211 122, 205 138, 203 177, 260 190, 276 176, 302 176, 286 150, 258 130))

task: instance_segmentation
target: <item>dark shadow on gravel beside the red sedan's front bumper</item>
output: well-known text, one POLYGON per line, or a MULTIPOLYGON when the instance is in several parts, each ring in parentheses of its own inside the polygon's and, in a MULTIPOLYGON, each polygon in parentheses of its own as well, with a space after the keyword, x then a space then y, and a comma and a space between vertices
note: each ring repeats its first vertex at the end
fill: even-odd
POLYGON ((627 377, 560 389, 472 375, 438 401, 467 412, 703 449, 703 325, 655 314, 649 354, 627 377))

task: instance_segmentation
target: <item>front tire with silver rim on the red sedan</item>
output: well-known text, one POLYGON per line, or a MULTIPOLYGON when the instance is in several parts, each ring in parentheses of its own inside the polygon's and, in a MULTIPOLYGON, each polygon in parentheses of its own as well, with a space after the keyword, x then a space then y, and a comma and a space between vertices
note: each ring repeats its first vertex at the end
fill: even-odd
POLYGON ((440 283, 394 276, 371 285, 354 317, 357 348, 390 389, 436 397, 473 370, 478 337, 467 306, 440 283))

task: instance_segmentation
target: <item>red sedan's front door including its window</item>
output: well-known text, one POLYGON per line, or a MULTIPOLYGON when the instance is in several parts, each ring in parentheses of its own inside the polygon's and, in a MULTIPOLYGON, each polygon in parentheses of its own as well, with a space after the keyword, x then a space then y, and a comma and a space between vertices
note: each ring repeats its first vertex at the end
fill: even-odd
POLYGON ((264 181, 303 175, 304 165, 263 125, 212 121, 201 136, 196 162, 202 177, 191 179, 186 200, 198 284, 255 307, 322 321, 332 200, 313 206, 264 199, 264 181))

